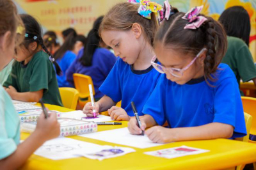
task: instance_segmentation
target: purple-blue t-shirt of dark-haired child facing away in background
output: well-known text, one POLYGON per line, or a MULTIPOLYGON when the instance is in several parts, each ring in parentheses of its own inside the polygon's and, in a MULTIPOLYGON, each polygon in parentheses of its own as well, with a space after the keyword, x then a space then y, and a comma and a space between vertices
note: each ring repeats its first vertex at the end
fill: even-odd
MULTIPOLYGON (((92 77, 93 86, 95 89, 94 98, 103 97, 103 93, 99 91, 99 87, 104 82, 108 73, 116 63, 115 55, 108 49, 97 48, 92 56, 92 66, 84 66, 79 61, 83 56, 84 49, 79 50, 77 58, 67 70, 67 81, 74 86, 73 73, 81 73, 92 77)), ((88 88, 88 87, 85 87, 88 88)))

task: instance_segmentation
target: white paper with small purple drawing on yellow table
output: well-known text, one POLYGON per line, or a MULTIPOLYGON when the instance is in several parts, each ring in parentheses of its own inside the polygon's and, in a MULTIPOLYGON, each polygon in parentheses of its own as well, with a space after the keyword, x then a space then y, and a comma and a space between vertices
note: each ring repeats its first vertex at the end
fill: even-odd
POLYGON ((91 159, 103 160, 105 158, 120 157, 122 155, 131 153, 134 151, 135 150, 132 148, 118 147, 118 146, 113 147, 113 146, 105 145, 91 153, 90 152, 84 153, 82 154, 82 156, 86 158, 91 158, 91 159))

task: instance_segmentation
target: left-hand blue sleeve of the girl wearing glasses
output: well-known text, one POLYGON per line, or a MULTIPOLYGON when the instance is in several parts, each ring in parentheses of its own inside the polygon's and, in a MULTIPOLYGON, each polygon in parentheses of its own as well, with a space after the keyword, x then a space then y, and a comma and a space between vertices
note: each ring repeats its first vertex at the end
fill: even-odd
POLYGON ((143 107, 143 114, 148 114, 154 118, 157 125, 163 125, 166 121, 165 111, 165 90, 166 82, 164 81, 165 75, 161 75, 157 82, 156 88, 148 98, 146 104, 143 107))

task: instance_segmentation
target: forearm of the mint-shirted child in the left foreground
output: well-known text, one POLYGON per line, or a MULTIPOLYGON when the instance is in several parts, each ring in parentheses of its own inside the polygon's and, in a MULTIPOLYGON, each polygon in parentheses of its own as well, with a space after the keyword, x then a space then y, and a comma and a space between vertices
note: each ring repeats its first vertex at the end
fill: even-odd
POLYGON ((0 169, 18 169, 44 142, 45 139, 34 132, 26 141, 17 146, 17 150, 12 155, 0 160, 0 169))

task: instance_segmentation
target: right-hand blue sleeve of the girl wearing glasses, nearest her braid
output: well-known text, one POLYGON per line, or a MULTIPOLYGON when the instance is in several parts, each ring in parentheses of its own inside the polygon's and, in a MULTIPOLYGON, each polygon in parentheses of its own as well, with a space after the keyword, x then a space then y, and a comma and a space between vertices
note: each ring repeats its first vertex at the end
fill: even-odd
POLYGON ((243 105, 235 77, 223 79, 216 87, 213 122, 232 125, 234 127, 232 137, 246 135, 243 105))

